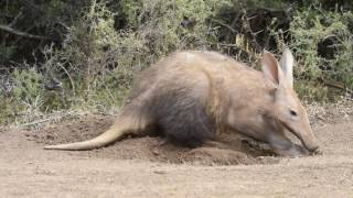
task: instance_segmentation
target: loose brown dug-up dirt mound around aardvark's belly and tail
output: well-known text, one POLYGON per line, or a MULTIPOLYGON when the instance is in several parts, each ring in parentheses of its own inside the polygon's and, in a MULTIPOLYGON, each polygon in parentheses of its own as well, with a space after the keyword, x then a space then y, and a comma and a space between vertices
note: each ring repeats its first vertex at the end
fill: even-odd
MULTIPOLYGON (((71 123, 57 123, 40 131, 29 131, 30 140, 42 144, 58 144, 92 139, 106 131, 114 121, 108 116, 84 116, 71 123)), ((94 151, 69 152, 89 157, 148 160, 164 163, 202 165, 269 164, 277 163, 266 144, 242 136, 224 136, 227 142, 210 142, 203 147, 175 145, 159 136, 131 138, 94 151)))

